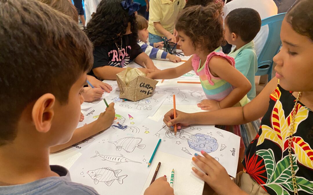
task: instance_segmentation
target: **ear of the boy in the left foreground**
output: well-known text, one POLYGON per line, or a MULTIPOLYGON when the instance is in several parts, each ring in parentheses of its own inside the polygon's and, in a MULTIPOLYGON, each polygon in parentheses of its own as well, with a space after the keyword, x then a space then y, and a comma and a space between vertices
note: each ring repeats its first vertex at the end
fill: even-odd
POLYGON ((32 110, 33 123, 37 131, 46 133, 50 130, 54 115, 54 95, 47 93, 35 102, 32 110))

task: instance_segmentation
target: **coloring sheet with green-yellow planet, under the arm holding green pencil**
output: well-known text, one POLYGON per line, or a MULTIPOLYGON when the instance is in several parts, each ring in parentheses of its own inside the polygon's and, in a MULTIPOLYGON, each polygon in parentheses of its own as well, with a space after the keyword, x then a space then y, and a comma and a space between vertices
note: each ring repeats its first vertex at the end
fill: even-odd
MULTIPOLYGON (((78 127, 83 126, 84 124, 86 124, 87 121, 92 122, 98 119, 99 115, 96 114, 96 111, 91 112, 93 110, 96 110, 96 108, 90 109, 89 113, 92 114, 85 116, 85 119, 82 122, 79 122, 78 127)), ((101 131, 100 133, 95 134, 77 144, 72 145, 72 148, 82 152, 90 146, 90 143, 93 143, 95 140, 97 141, 97 138, 101 137, 102 133, 104 132, 127 132, 135 135, 154 135, 162 127, 163 122, 156 122, 154 120, 148 119, 145 115, 140 115, 138 113, 132 114, 124 110, 115 109, 115 119, 110 128, 106 129, 105 131, 101 131)))

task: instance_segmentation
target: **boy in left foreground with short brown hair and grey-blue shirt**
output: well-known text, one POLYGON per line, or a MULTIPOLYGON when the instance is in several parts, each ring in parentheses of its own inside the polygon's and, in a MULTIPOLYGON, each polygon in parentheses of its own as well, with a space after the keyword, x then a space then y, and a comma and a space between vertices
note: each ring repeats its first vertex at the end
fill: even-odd
MULTIPOLYGON (((71 182, 66 168, 49 166, 49 148, 68 142, 80 119, 91 42, 39 1, 1 0, 0 7, 1 194, 97 194, 71 182)), ((156 189, 173 194, 166 178, 145 194, 156 189)))

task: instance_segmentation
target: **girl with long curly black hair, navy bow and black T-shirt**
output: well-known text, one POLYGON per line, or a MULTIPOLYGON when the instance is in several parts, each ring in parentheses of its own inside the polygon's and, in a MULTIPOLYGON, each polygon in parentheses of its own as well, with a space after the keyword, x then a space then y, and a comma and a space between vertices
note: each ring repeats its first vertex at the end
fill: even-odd
POLYGON ((102 0, 85 28, 94 45, 94 65, 90 75, 99 79, 116 80, 116 74, 123 71, 131 60, 147 68, 140 68, 146 74, 157 70, 153 62, 137 44, 135 12, 139 3, 131 0, 102 0))

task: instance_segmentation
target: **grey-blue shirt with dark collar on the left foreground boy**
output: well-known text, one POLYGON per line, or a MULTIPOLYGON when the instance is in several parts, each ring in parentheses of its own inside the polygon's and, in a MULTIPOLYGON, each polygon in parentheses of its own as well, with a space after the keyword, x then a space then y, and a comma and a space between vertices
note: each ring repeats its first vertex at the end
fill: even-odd
POLYGON ((98 195, 94 188, 71 182, 69 171, 66 168, 58 165, 50 165, 50 168, 60 177, 42 178, 20 185, 0 186, 0 194, 98 195))

